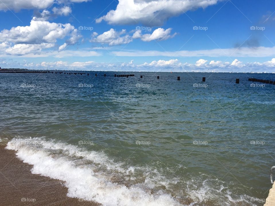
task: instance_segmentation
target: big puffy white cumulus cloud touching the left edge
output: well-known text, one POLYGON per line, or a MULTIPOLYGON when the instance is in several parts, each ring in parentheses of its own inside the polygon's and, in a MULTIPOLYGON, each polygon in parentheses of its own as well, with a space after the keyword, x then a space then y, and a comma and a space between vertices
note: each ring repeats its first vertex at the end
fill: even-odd
MULTIPOLYGON (((7 55, 42 54, 43 49, 55 46, 58 39, 66 40, 67 45, 76 44, 82 37, 77 29, 69 23, 50 23, 49 21, 32 21, 30 26, 12 27, 0 32, 0 49, 7 55), (5 49, 3 49, 5 48, 5 49)), ((64 49, 64 44, 59 50, 64 49)))

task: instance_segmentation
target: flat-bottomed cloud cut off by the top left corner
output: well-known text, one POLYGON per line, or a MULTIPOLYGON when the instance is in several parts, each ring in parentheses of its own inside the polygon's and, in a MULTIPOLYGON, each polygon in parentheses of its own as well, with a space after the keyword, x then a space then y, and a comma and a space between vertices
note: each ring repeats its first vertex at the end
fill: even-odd
POLYGON ((89 0, 64 0, 64 1, 55 1, 55 0, 1 0, 0 1, 0 10, 15 10, 19 11, 21 9, 46 9, 53 5, 54 3, 81 3, 87 2, 89 0))

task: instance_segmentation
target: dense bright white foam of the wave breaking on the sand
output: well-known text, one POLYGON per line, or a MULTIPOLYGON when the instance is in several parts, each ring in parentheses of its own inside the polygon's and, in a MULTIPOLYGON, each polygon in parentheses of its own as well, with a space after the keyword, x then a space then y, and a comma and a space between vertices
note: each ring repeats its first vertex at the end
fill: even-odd
MULTIPOLYGON (((127 188, 124 185, 112 183, 105 178, 94 175, 89 167, 78 167, 74 161, 67 157, 55 156, 48 149, 65 149, 70 155, 83 155, 76 146, 62 143, 53 143, 38 138, 20 139, 13 138, 7 144, 7 149, 16 150, 16 155, 25 163, 34 165, 32 173, 59 179, 68 187, 68 197, 76 197, 90 201, 96 201, 108 206, 126 205, 180 205, 170 195, 159 191, 150 194, 139 185, 127 188), (40 144, 40 148, 33 145, 40 144), (41 146, 43 146, 41 148, 41 146)), ((97 163, 102 163, 105 156, 102 153, 90 153, 85 156, 97 163)), ((107 163, 108 165, 108 163, 107 163)), ((114 166, 111 166, 114 167, 114 166)))

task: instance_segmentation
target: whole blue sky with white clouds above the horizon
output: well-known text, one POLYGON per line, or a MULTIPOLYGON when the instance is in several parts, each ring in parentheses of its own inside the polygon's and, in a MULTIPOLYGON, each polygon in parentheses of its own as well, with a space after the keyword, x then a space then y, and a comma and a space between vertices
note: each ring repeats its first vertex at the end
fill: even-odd
POLYGON ((0 67, 275 72, 274 0, 1 0, 0 67))

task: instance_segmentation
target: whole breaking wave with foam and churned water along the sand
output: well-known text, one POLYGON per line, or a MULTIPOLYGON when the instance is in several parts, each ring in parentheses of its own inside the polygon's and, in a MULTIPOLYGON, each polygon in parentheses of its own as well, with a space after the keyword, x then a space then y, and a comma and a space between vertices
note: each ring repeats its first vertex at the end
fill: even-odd
POLYGON ((68 197, 103 206, 220 205, 221 201, 223 205, 256 205, 248 195, 232 194, 218 180, 199 183, 200 180, 191 179, 180 186, 185 188, 173 194, 170 186, 178 185, 177 178, 167 179, 158 170, 146 166, 125 167, 104 152, 87 151, 44 137, 13 138, 6 148, 17 151, 19 159, 33 165, 32 173, 64 181, 68 197))

